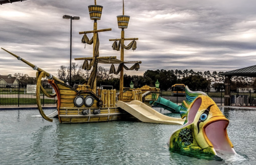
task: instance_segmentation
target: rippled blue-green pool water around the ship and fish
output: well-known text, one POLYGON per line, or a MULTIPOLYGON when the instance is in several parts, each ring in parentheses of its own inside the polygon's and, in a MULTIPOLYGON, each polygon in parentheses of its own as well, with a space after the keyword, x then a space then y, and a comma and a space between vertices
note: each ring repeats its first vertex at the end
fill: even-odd
MULTIPOLYGON (((45 110, 50 114, 54 110, 45 110)), ((178 114, 166 113, 179 117, 178 114)), ((238 155, 191 155, 166 145, 179 125, 132 121, 61 124, 38 110, 0 111, 0 164, 255 164, 256 110, 225 109, 238 155)))

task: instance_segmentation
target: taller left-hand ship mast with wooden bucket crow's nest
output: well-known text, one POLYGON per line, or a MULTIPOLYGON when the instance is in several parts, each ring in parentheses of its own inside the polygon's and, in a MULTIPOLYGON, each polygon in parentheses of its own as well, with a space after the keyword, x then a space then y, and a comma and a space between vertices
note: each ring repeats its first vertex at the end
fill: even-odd
MULTIPOLYGON (((94 58, 94 60, 96 60, 96 58, 99 56, 99 49, 98 48, 99 48, 99 45, 100 45, 99 40, 97 40, 97 38, 99 38, 97 36, 97 33, 98 32, 104 32, 104 31, 111 31, 112 29, 108 28, 108 29, 97 30, 97 20, 101 19, 103 6, 97 5, 96 0, 94 0, 94 5, 90 5, 90 6, 88 6, 88 8, 89 8, 90 18, 91 18, 91 20, 94 20, 93 30, 92 31, 79 32, 79 34, 93 33, 93 58, 94 58)), ((97 67, 97 65, 93 66, 93 69, 96 69, 95 67, 97 67)), ((96 73, 94 72, 94 74, 96 74, 96 73)), ((92 76, 93 75, 91 73, 90 78, 92 78, 92 76)), ((90 83, 90 78, 89 78, 88 83, 90 83)), ((92 79, 94 81, 93 85, 91 86, 92 92, 96 93, 96 75, 94 75, 94 78, 92 78, 92 79)))

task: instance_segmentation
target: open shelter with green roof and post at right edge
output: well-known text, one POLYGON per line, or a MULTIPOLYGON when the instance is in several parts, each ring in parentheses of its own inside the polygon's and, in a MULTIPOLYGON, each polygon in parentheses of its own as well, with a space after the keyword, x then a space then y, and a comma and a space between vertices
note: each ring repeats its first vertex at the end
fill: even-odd
POLYGON ((231 77, 232 76, 247 76, 247 77, 256 77, 256 65, 236 69, 223 73, 225 75, 225 96, 224 96, 224 105, 230 106, 230 86, 231 86, 231 77))

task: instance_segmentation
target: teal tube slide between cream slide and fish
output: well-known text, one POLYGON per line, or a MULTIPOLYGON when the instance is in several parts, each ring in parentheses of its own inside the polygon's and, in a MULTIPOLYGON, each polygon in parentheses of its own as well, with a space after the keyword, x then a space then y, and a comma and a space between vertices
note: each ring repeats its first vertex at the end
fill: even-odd
POLYGON ((181 106, 176 105, 174 102, 167 100, 163 97, 160 97, 156 101, 150 101, 150 105, 164 108, 165 110, 171 111, 172 113, 180 113, 181 106))

